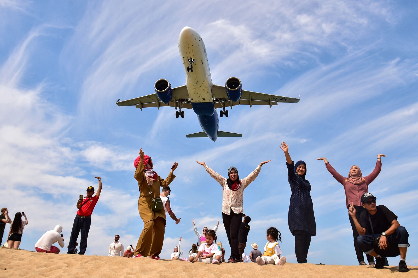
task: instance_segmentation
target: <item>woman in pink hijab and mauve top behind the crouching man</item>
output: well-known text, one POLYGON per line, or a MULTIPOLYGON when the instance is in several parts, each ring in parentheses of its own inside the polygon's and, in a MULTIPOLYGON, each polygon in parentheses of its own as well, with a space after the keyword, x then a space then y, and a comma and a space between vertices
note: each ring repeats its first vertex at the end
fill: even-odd
MULTIPOLYGON (((379 175, 380 170, 382 169, 382 162, 380 161, 380 158, 382 156, 386 155, 377 155, 375 170, 373 170, 373 172, 370 175, 363 177, 360 168, 357 165, 353 165, 350 168, 347 178, 337 173, 337 171, 331 166, 331 164, 329 164, 326 158, 317 158, 318 160, 324 160, 325 167, 329 171, 329 173, 331 173, 331 175, 339 183, 341 183, 342 186, 344 186, 346 207, 348 209, 351 203, 353 203, 354 208, 356 209, 357 219, 359 219, 360 213, 362 213, 363 210, 366 210, 362 207, 360 197, 364 193, 368 192, 369 184, 373 180, 375 180, 377 175, 379 175)), ((356 250, 357 260, 359 261, 360 265, 366 265, 366 263, 364 263, 362 248, 360 248, 360 246, 357 244, 357 237, 359 236, 359 233, 357 232, 356 226, 354 225, 354 221, 350 215, 348 215, 348 218, 350 220, 351 228, 353 230, 354 249, 356 250)), ((375 265, 374 258, 371 255, 367 255, 367 261, 369 262, 369 265, 375 265)))

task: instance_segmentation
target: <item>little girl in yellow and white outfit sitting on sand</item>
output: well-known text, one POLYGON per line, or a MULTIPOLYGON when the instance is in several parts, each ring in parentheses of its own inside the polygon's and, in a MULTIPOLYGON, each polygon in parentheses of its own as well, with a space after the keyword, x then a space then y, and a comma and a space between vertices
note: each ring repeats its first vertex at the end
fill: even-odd
POLYGON ((257 264, 284 265, 286 263, 286 258, 284 256, 280 258, 282 251, 280 250, 280 245, 277 242, 277 240, 282 242, 280 232, 274 227, 268 228, 267 240, 268 242, 264 247, 265 252, 263 256, 257 258, 257 264))

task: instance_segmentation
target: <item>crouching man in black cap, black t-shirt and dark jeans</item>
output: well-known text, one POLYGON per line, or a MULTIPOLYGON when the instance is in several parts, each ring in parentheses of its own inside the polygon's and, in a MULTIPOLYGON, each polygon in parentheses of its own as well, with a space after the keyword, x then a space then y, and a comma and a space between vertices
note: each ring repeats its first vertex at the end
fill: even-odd
POLYGON ((377 206, 376 197, 371 193, 364 193, 361 201, 367 210, 360 214, 359 220, 354 206, 349 207, 349 213, 359 232, 359 246, 364 253, 376 258, 375 268, 383 268, 386 257, 400 255, 399 272, 409 271, 405 262, 409 234, 399 224, 398 216, 384 205, 377 206))

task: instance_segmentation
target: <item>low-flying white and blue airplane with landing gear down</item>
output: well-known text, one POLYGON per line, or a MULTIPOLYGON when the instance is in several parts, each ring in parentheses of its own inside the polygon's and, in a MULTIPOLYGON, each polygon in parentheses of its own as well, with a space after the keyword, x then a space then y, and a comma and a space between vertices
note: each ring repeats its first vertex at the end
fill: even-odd
POLYGON ((186 135, 187 138, 242 137, 239 133, 219 130, 219 116, 228 117, 227 106, 234 105, 277 105, 277 103, 297 103, 300 98, 289 98, 242 90, 241 80, 228 78, 225 86, 214 85, 210 75, 206 48, 200 35, 190 27, 184 27, 178 36, 178 50, 186 73, 186 84, 171 88, 166 79, 154 84, 155 93, 130 100, 116 101, 117 106, 135 105, 135 108, 171 106, 176 109, 176 118, 184 118, 182 109, 193 109, 203 132, 186 135), (177 111, 178 108, 178 111, 177 111))

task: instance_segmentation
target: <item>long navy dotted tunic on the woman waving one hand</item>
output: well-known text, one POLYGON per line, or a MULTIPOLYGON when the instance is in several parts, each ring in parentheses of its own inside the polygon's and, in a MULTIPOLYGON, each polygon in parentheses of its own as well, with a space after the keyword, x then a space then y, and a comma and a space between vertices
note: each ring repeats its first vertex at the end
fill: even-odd
POLYGON ((289 230, 303 230, 316 235, 316 223, 314 215, 314 204, 311 198, 311 184, 305 178, 295 173, 294 166, 286 163, 288 168, 288 181, 292 190, 289 205, 289 230))

